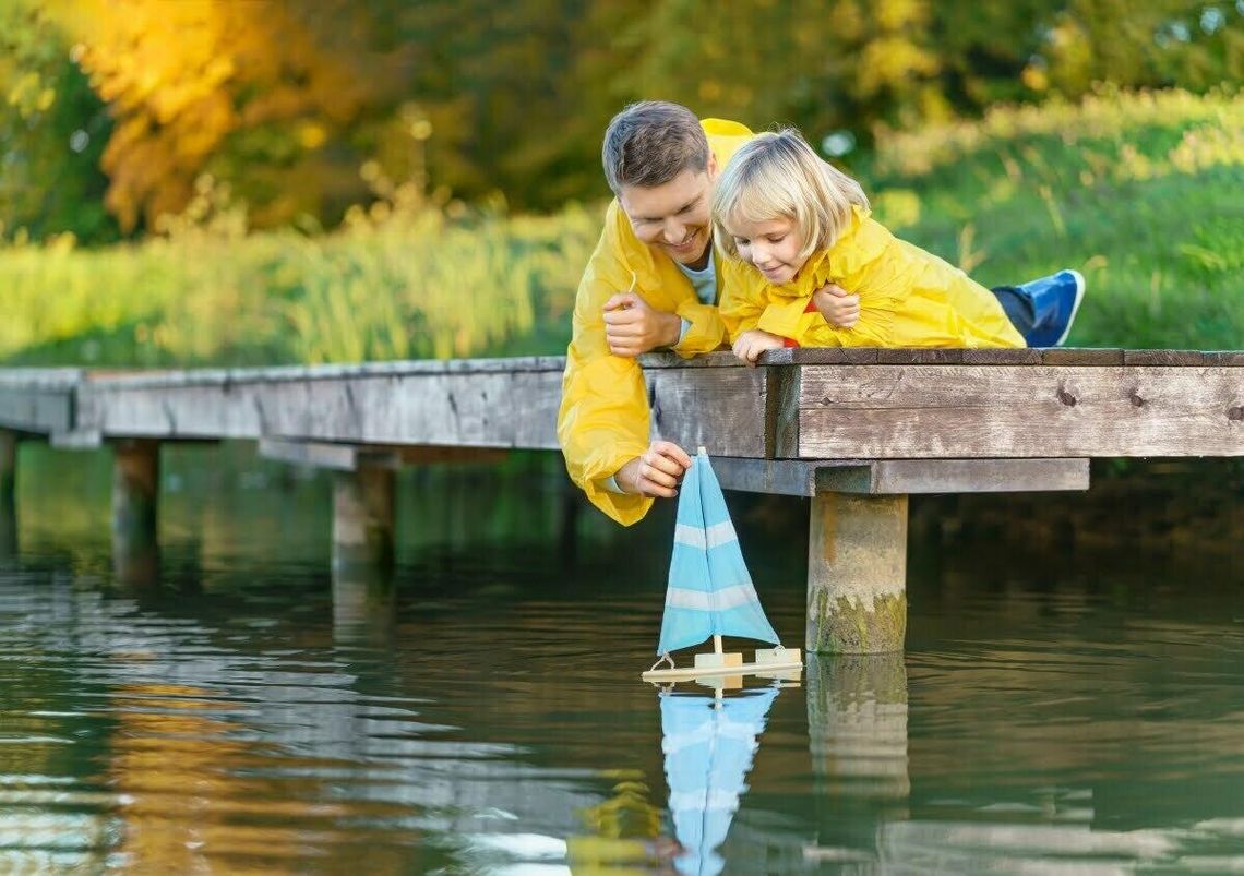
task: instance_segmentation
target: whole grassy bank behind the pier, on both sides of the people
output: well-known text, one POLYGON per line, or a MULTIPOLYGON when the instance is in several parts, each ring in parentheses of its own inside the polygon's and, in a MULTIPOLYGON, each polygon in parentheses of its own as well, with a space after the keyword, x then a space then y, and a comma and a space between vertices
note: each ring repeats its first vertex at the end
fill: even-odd
MULTIPOLYGON (((1235 348, 1244 98, 1100 95, 882 138, 855 168, 902 236, 986 284, 1079 268, 1071 342, 1235 348)), ((600 205, 450 219, 396 197, 245 235, 205 192, 168 236, 0 249, 0 361, 254 365, 561 352, 600 205)))

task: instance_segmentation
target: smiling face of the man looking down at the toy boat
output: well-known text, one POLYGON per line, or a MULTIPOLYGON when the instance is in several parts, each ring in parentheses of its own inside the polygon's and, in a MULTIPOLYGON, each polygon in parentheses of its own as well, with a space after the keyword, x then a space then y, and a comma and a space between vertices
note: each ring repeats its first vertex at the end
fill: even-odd
POLYGON ((717 162, 709 156, 707 169, 688 168, 662 185, 623 185, 618 203, 634 236, 674 261, 700 268, 713 239, 709 214, 715 179, 717 162))

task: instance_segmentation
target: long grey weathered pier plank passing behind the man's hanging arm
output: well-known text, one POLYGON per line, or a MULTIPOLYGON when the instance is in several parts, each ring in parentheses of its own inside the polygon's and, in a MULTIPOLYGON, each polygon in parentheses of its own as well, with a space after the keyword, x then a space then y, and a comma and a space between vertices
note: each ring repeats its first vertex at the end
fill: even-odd
MULTIPOLYGON (((236 377, 236 373, 234 375, 236 377)), ((657 434, 713 453, 764 454, 764 372, 646 372, 657 434)), ((330 380, 92 381, 81 428, 149 438, 285 438, 356 444, 556 449, 560 371, 330 380)))

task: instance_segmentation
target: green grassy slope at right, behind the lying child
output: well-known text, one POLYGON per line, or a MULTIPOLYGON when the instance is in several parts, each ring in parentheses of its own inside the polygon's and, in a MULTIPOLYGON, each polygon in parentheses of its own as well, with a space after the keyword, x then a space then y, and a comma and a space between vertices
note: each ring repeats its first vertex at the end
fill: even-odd
POLYGON ((986 285, 1076 268, 1069 343, 1239 348, 1244 98, 1103 93, 886 142, 877 214, 986 285))

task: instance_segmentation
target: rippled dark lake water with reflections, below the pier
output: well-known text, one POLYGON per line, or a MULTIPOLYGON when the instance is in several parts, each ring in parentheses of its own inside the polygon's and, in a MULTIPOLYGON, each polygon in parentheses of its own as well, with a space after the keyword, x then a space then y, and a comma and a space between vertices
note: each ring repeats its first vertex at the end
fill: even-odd
MULTIPOLYGON (((906 655, 659 691, 668 509, 566 541, 549 467, 404 474, 392 585, 335 580, 330 480, 218 453, 127 585, 107 459, 24 448, 0 871, 1244 871, 1234 545, 913 543, 906 655)), ((730 499, 801 645, 800 506, 730 499)))

